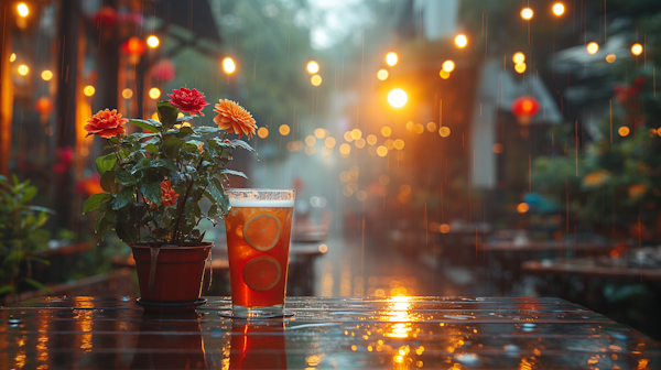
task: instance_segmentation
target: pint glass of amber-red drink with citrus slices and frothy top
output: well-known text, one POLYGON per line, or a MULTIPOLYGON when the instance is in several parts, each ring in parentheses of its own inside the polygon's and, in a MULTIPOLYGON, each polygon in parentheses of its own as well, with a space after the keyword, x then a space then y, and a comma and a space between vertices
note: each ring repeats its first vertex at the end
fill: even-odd
POLYGON ((225 218, 234 317, 281 316, 294 191, 227 189, 225 218))

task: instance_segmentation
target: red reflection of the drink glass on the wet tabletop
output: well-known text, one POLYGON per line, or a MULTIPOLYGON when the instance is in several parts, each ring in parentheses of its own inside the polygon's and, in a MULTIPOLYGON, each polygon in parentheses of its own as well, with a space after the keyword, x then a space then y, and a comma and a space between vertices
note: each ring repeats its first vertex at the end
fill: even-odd
POLYGON ((229 368, 237 369, 286 369, 283 319, 258 323, 234 319, 229 368))

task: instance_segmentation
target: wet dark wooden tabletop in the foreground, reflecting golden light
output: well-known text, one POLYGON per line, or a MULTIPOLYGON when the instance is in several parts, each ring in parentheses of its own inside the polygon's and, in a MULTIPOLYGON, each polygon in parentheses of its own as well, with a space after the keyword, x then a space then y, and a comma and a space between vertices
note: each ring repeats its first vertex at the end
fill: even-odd
POLYGON ((559 298, 296 298, 227 319, 209 297, 150 316, 132 297, 1 307, 0 369, 659 369, 661 344, 559 298))

